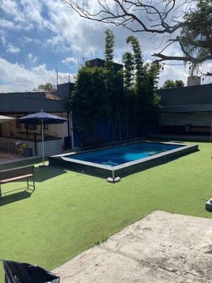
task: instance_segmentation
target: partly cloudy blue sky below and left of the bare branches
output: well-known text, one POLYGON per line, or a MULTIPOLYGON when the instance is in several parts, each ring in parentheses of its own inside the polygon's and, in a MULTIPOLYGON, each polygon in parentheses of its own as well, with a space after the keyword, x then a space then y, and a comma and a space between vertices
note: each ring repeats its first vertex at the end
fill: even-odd
MULTIPOLYGON (((55 85, 56 68, 59 83, 73 81, 83 62, 104 59, 107 28, 115 36, 114 61, 122 63, 122 54, 131 50, 126 45, 128 30, 83 19, 61 0, 0 0, 0 92, 32 91, 46 82, 55 85)), ((148 33, 136 36, 143 58, 153 61, 151 54, 163 46, 162 38, 148 33)), ((167 54, 180 54, 179 48, 172 45, 167 54)), ((166 65, 158 84, 166 79, 186 82, 188 75, 188 66, 166 65)))

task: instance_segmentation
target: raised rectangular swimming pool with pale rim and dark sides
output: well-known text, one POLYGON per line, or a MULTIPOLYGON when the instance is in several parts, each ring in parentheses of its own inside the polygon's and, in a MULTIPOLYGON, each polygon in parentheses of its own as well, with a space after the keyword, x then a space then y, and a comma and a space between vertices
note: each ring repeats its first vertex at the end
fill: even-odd
POLYGON ((116 177, 150 168, 198 151, 198 145, 141 141, 104 149, 49 157, 50 165, 64 166, 102 177, 116 177))

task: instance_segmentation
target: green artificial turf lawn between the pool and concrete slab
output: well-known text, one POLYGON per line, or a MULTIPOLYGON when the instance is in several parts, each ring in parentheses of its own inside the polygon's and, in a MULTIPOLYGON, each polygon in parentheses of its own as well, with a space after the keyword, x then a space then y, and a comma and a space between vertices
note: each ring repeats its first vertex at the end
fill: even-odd
POLYGON ((32 195, 20 190, 0 201, 0 258, 52 270, 154 210, 211 218, 205 202, 212 197, 212 146, 199 143, 199 149, 116 184, 60 167, 36 168, 32 195))

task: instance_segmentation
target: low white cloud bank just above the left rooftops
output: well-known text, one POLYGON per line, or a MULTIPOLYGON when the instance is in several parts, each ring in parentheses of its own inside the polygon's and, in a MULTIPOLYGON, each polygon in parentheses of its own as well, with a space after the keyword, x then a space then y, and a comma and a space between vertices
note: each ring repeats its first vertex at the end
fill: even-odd
MULTIPOLYGON (((73 81, 73 74, 59 73, 59 83, 67 82, 69 76, 73 81)), ((56 74, 54 70, 47 70, 45 64, 26 69, 23 65, 12 64, 0 57, 0 92, 30 91, 46 82, 55 85, 56 74)))

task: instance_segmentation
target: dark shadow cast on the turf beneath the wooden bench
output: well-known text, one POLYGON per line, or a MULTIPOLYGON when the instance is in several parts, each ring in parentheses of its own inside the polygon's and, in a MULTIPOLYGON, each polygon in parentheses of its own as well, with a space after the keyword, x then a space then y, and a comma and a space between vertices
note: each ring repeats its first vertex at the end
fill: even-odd
MULTIPOLYGON (((18 189, 19 190, 19 189, 18 189)), ((16 190, 12 190, 9 191, 14 192, 16 190)), ((8 193, 8 192, 6 192, 8 193)), ((15 194, 10 194, 10 195, 6 195, 6 193, 4 192, 2 194, 2 197, 0 199, 0 207, 6 205, 6 204, 11 204, 12 202, 18 202, 20 200, 24 200, 27 199, 28 197, 31 197, 31 195, 33 194, 33 190, 24 190, 22 192, 16 192, 15 194)))

